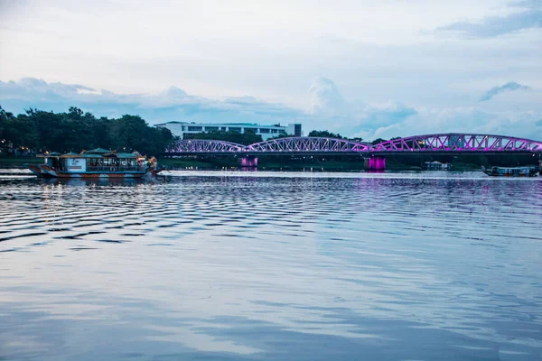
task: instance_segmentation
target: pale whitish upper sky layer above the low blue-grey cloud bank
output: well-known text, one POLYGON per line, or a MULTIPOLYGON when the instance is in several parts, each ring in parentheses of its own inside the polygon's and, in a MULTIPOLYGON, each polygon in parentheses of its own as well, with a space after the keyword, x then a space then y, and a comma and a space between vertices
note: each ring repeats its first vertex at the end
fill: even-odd
POLYGON ((467 41, 434 31, 515 11, 500 0, 0 6, 3 80, 32 76, 117 93, 182 84, 202 97, 250 94, 307 108, 306 85, 319 75, 339 84, 346 99, 419 99, 418 106, 450 106, 451 87, 475 82, 485 89, 514 79, 542 88, 539 32, 467 41))

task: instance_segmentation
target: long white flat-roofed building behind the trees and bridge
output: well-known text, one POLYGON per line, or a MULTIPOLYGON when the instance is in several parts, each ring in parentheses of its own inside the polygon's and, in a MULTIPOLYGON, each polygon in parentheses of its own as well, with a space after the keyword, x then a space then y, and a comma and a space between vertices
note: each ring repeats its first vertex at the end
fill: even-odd
POLYGON ((250 123, 188 123, 188 122, 167 122, 155 125, 161 128, 169 129, 173 135, 178 135, 184 139, 184 134, 196 134, 211 131, 231 131, 245 133, 246 130, 253 130, 261 135, 263 140, 274 138, 279 134, 289 134, 294 136, 303 136, 303 130, 300 124, 289 125, 257 125, 250 123))

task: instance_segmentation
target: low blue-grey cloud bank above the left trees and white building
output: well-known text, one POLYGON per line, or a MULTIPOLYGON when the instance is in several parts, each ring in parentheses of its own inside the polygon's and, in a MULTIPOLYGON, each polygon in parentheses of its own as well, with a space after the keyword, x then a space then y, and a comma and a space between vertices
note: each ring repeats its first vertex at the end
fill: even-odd
POLYGON ((95 116, 134 114, 156 124, 170 120, 193 122, 294 123, 304 116, 299 109, 269 103, 256 97, 228 97, 222 100, 188 95, 181 88, 167 88, 158 95, 115 94, 81 85, 47 83, 24 78, 0 81, 0 105, 14 113, 29 107, 55 112, 79 106, 95 116))

